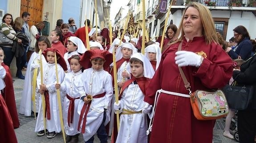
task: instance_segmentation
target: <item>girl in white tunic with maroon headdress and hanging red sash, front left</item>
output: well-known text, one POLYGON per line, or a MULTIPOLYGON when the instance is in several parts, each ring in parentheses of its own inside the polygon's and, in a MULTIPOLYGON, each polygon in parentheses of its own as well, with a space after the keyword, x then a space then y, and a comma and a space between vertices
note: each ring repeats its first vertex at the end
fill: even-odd
POLYGON ((41 94, 44 94, 45 100, 43 101, 42 98, 40 98, 40 107, 37 116, 35 132, 37 132, 38 136, 43 136, 46 134, 44 131, 45 118, 46 129, 49 131, 47 138, 51 139, 54 138, 57 133, 61 131, 61 122, 59 115, 61 105, 58 104, 58 97, 55 89, 55 84, 57 82, 55 64, 57 64, 58 81, 60 83, 65 77, 64 70, 67 70, 67 65, 64 58, 61 56, 60 51, 57 49, 48 48, 44 50, 43 54, 46 57, 48 63, 43 67, 43 84, 41 84, 41 72, 39 72, 37 77, 37 86, 39 92, 41 94), (57 63, 55 63, 54 52, 56 52, 57 63), (42 102, 45 102, 45 117, 43 113, 42 102))

